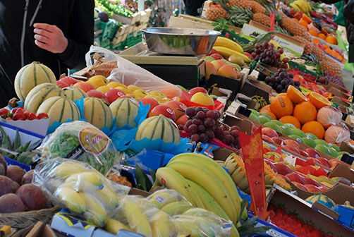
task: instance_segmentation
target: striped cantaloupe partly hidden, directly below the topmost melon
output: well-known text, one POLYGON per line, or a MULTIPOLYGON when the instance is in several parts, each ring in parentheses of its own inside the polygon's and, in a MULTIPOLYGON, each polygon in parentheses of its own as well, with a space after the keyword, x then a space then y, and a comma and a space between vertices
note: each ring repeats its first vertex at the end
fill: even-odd
POLYGON ((56 84, 42 83, 35 86, 25 99, 25 110, 37 114, 39 106, 48 98, 54 96, 63 96, 63 90, 56 84))

